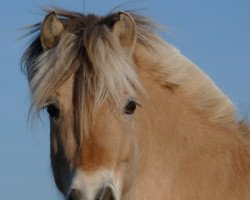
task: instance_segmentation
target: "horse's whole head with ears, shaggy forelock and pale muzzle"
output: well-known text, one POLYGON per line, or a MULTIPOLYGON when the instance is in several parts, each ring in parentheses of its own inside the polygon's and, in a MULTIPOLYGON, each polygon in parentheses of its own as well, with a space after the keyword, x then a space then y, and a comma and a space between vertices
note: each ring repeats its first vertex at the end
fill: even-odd
MULTIPOLYGON (((52 93, 46 105, 51 122, 51 165, 58 189, 70 200, 120 199, 125 174, 132 171, 129 167, 136 160, 135 134, 131 134, 136 102, 134 97, 122 100, 122 96, 135 93, 132 91, 140 85, 131 64, 137 31, 128 13, 119 12, 102 21, 92 15, 81 18, 70 20, 69 25, 54 12, 46 16, 41 24, 40 49, 46 52, 47 62, 41 57, 41 65, 54 74, 47 77, 47 87, 39 82, 34 90, 52 93), (55 71, 62 65, 67 70, 57 77, 62 70, 55 71), (70 73, 72 77, 65 78, 70 73), (51 86, 48 80, 57 83, 51 86), (100 91, 93 92, 96 88, 100 91), (103 91, 107 91, 105 95, 103 91)), ((34 80, 40 80, 35 73, 38 78, 34 80)))

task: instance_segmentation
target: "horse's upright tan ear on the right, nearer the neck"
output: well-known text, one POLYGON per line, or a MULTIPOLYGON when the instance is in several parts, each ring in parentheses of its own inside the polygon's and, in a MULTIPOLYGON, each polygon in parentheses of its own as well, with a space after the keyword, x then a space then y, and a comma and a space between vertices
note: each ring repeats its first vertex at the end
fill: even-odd
POLYGON ((126 12, 119 12, 112 32, 118 37, 121 45, 132 52, 136 43, 136 24, 133 17, 126 12))

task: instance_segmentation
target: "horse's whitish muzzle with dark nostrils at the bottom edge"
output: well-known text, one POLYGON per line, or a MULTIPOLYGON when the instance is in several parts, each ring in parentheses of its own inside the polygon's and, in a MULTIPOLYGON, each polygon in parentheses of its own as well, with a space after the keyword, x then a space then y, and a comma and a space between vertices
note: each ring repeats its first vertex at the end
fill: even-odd
POLYGON ((114 179, 114 174, 108 170, 77 170, 72 174, 66 200, 119 200, 118 182, 114 179))

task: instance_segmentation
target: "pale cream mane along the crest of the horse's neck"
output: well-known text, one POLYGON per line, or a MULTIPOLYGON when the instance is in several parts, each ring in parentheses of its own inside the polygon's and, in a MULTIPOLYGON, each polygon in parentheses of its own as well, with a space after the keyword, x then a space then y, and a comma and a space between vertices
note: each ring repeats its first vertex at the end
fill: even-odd
POLYGON ((156 48, 150 51, 138 45, 135 60, 142 73, 148 72, 162 87, 184 97, 208 120, 226 126, 235 122, 232 102, 201 69, 167 43, 159 43, 156 48))

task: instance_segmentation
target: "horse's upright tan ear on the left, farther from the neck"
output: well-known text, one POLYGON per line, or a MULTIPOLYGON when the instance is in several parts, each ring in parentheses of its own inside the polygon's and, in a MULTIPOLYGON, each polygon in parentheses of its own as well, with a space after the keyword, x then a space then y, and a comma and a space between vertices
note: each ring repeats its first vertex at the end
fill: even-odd
POLYGON ((63 24, 57 19, 55 12, 46 16, 41 27, 41 44, 44 51, 57 45, 63 30, 63 24))

